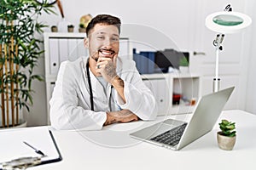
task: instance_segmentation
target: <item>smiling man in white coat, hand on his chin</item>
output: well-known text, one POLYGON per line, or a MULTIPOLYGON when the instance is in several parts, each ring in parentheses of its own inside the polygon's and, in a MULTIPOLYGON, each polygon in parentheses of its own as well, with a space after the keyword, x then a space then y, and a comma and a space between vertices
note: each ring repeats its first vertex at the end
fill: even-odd
POLYGON ((153 120, 155 100, 135 62, 119 59, 120 20, 100 14, 86 28, 89 58, 61 63, 50 105, 56 129, 97 130, 114 122, 153 120))

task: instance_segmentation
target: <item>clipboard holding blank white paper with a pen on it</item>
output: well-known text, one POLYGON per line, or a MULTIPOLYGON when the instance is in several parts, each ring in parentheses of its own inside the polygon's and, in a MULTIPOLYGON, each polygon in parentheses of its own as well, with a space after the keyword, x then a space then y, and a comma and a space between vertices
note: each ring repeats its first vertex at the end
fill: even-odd
POLYGON ((48 127, 0 130, 0 136, 0 153, 3 153, 0 155, 0 164, 24 157, 40 157, 35 150, 24 144, 24 142, 44 152, 45 156, 40 157, 40 162, 34 166, 62 160, 54 135, 48 127))

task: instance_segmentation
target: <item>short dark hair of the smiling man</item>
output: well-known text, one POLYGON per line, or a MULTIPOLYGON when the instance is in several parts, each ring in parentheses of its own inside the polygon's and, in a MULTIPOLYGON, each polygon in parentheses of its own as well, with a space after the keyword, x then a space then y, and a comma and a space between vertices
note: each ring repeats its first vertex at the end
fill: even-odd
POLYGON ((121 20, 118 17, 109 15, 109 14, 98 14, 96 17, 94 17, 92 20, 90 20, 90 23, 86 27, 86 35, 88 37, 89 31, 93 29, 96 24, 106 24, 106 25, 114 25, 119 29, 120 34, 120 26, 121 26, 121 20))

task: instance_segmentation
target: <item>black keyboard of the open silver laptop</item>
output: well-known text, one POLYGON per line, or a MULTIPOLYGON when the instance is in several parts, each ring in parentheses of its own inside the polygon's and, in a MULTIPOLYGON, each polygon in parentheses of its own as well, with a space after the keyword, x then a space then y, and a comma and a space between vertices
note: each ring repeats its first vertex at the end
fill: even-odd
POLYGON ((171 130, 166 131, 165 133, 161 133, 150 140, 153 140, 162 144, 175 146, 176 144, 178 144, 179 140, 181 139, 186 126, 187 126, 187 123, 183 123, 182 125, 178 127, 174 127, 171 130))

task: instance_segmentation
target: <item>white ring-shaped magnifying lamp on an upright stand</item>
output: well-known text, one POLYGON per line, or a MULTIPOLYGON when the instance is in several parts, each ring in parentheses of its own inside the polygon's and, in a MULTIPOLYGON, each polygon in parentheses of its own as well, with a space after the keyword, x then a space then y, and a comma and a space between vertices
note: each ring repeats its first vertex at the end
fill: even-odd
POLYGON ((224 11, 209 14, 206 18, 206 26, 209 30, 217 32, 213 46, 216 53, 215 77, 213 78, 213 92, 218 92, 220 78, 218 77, 218 54, 223 49, 222 42, 225 34, 233 34, 250 26, 252 20, 246 14, 233 12, 230 4, 224 8, 224 11))

